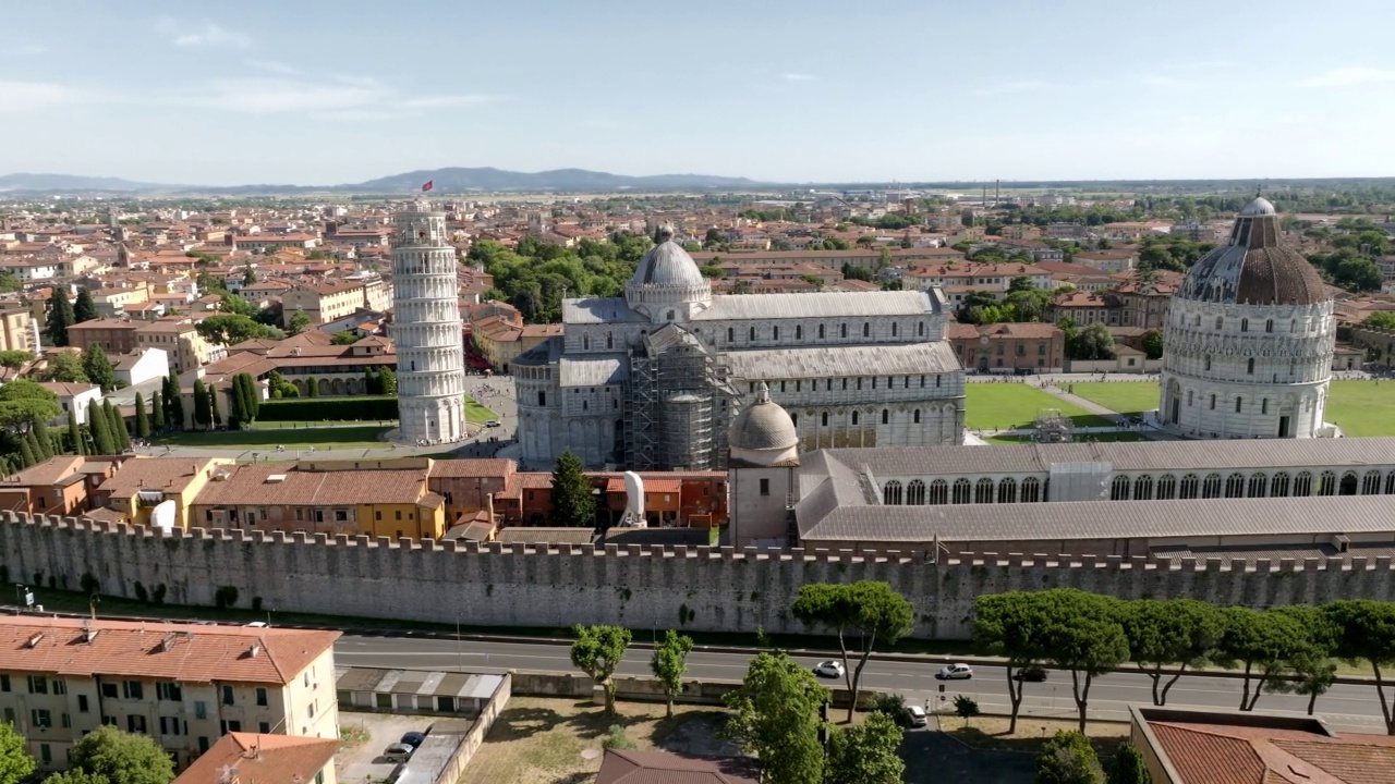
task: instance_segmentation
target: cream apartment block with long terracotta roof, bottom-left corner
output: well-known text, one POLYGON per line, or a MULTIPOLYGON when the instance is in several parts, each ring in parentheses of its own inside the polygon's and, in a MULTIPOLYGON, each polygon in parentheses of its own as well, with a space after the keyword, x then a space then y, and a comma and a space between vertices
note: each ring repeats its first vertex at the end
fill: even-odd
POLYGON ((229 732, 339 737, 339 632, 0 618, 0 713, 43 770, 109 724, 149 735, 179 767, 229 732))

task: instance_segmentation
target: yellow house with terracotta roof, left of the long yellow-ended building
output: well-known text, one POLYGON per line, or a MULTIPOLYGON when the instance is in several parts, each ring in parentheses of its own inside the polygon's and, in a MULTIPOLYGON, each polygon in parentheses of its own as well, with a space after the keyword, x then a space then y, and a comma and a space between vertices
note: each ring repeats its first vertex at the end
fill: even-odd
POLYGON ((106 506, 138 525, 149 525, 153 509, 173 501, 174 525, 187 530, 194 498, 232 465, 226 458, 133 458, 89 495, 93 506, 106 506))

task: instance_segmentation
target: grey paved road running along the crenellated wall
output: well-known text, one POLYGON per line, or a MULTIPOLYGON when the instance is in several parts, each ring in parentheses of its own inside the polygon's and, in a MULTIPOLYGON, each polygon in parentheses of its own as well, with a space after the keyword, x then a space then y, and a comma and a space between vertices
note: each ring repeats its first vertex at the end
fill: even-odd
MULTIPOLYGON (((640 638, 643 639, 643 638, 640 638)), ((746 671, 746 654, 695 651, 689 654, 689 677, 693 679, 739 681, 746 671)), ((797 656, 797 661, 812 667, 817 660, 797 656)), ((568 647, 548 643, 485 643, 473 640, 441 640, 413 638, 378 638, 345 635, 335 646, 339 665, 405 667, 413 670, 541 670, 572 671, 568 647)), ((908 702, 923 703, 939 698, 940 681, 933 664, 901 661, 869 661, 862 681, 868 688, 898 692, 908 702)), ((647 675, 649 651, 632 650, 621 664, 621 675, 647 675)), ((1240 703, 1239 678, 1198 677, 1182 678, 1168 695, 1170 707, 1207 707, 1232 710, 1240 703)), ((1070 674, 1053 671, 1045 684, 1027 684, 1024 711, 1031 716, 1074 717, 1070 674)), ((1006 713, 1009 709, 1006 674, 1000 667, 982 667, 972 681, 946 685, 946 702, 954 695, 970 695, 985 711, 1006 713)), ((1089 695, 1094 718, 1127 718, 1127 706, 1152 703, 1151 681, 1137 672, 1116 672, 1095 681, 1089 695)), ((1260 710, 1307 710, 1307 698, 1264 695, 1260 710)), ((1359 732, 1381 731, 1381 709, 1374 686, 1334 685, 1318 698, 1317 711, 1338 730, 1359 732)))

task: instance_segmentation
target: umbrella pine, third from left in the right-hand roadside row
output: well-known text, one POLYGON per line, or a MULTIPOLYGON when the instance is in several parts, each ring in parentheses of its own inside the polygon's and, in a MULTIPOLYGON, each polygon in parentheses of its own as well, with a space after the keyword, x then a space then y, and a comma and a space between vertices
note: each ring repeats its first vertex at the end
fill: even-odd
POLYGON ((1120 612, 1129 653, 1152 681, 1152 704, 1168 704, 1168 691, 1189 667, 1207 663, 1225 633, 1225 617, 1194 598, 1126 601, 1120 612))

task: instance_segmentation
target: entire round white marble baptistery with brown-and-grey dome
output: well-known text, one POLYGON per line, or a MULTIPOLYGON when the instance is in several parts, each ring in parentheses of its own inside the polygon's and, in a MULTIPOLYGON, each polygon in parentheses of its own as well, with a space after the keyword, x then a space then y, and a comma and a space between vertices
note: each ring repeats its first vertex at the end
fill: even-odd
POLYGON ((1328 435, 1336 321, 1317 269, 1279 241, 1274 205, 1240 211, 1198 261, 1163 328, 1163 427, 1193 438, 1328 435))

